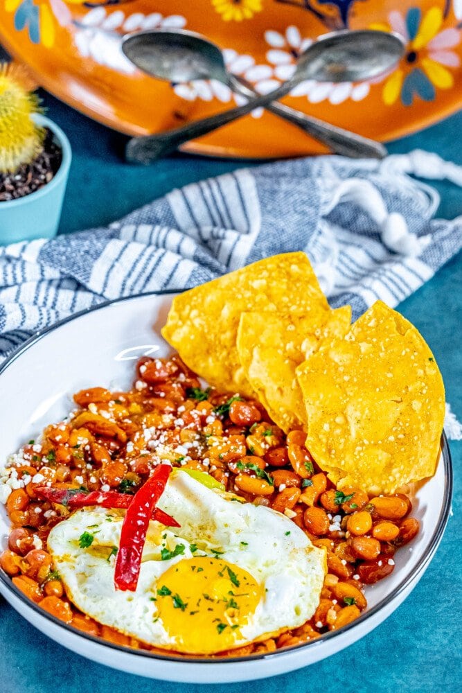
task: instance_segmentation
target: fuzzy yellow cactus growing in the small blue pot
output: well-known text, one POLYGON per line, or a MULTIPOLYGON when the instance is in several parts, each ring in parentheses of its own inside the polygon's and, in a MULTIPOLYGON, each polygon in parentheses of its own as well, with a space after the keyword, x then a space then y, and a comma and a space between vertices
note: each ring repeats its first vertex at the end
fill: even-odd
POLYGON ((45 132, 32 118, 42 109, 28 86, 23 69, 0 64, 0 173, 15 173, 42 150, 45 132))

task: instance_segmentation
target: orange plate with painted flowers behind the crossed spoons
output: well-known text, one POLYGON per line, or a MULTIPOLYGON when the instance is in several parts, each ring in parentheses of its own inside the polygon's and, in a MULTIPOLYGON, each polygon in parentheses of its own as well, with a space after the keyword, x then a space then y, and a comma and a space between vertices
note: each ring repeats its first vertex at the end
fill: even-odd
MULTIPOLYGON (((374 139, 418 130, 461 104, 462 0, 0 0, 0 41, 37 81, 129 134, 168 130, 240 103, 214 80, 168 85, 135 69, 121 51, 123 35, 163 26, 214 40, 229 69, 260 92, 287 79, 299 52, 326 31, 398 31, 407 52, 393 73, 362 84, 305 81, 285 100, 374 139)), ((186 149, 224 157, 322 151, 261 109, 186 149)))

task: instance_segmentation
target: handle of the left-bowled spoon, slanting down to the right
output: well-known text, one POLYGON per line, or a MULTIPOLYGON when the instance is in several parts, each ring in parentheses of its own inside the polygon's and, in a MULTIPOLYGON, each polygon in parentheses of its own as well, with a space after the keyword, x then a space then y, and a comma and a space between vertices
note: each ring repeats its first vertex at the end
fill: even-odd
MULTIPOLYGON (((229 75, 229 86, 233 91, 238 91, 239 94, 247 98, 252 98, 256 94, 256 91, 249 86, 247 81, 231 74, 229 75)), ((383 159, 387 156, 387 150, 379 142, 362 137, 355 132, 337 128, 337 125, 324 123, 283 103, 274 101, 269 103, 266 108, 322 142, 335 154, 353 159, 383 159)))

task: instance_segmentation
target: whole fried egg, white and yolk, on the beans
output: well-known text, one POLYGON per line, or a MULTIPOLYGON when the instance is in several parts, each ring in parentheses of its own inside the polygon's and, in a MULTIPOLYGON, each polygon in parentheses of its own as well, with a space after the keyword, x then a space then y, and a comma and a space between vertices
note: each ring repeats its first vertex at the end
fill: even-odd
POLYGON ((136 592, 114 587, 124 511, 82 509, 53 527, 48 550, 81 611, 152 646, 190 654, 265 640, 312 617, 326 554, 287 517, 180 470, 159 507, 181 527, 150 522, 136 592))

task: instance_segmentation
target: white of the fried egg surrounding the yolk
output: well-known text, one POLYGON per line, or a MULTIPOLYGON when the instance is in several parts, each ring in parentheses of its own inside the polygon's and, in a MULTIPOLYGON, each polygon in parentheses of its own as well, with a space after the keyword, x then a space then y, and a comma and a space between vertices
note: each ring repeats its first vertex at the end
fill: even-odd
MULTIPOLYGON (((134 593, 115 589, 115 557, 108 560, 112 547, 119 544, 124 511, 98 507, 76 511, 48 536, 48 550, 69 599, 98 622, 126 635, 155 647, 184 651, 181 638, 168 633, 152 598, 171 565, 193 556, 216 556, 215 550, 220 559, 247 570, 263 586, 264 596, 233 647, 301 626, 319 604, 325 551, 314 547, 284 515, 231 498, 184 472, 172 473, 159 507, 181 527, 150 523, 134 593), (79 545, 83 532, 94 535, 90 547, 79 545), (185 547, 183 554, 161 560, 162 547, 172 551, 179 543, 185 547), (191 545, 197 547, 195 552, 191 545)), ((200 653, 213 651, 217 650, 202 643, 200 653)))

